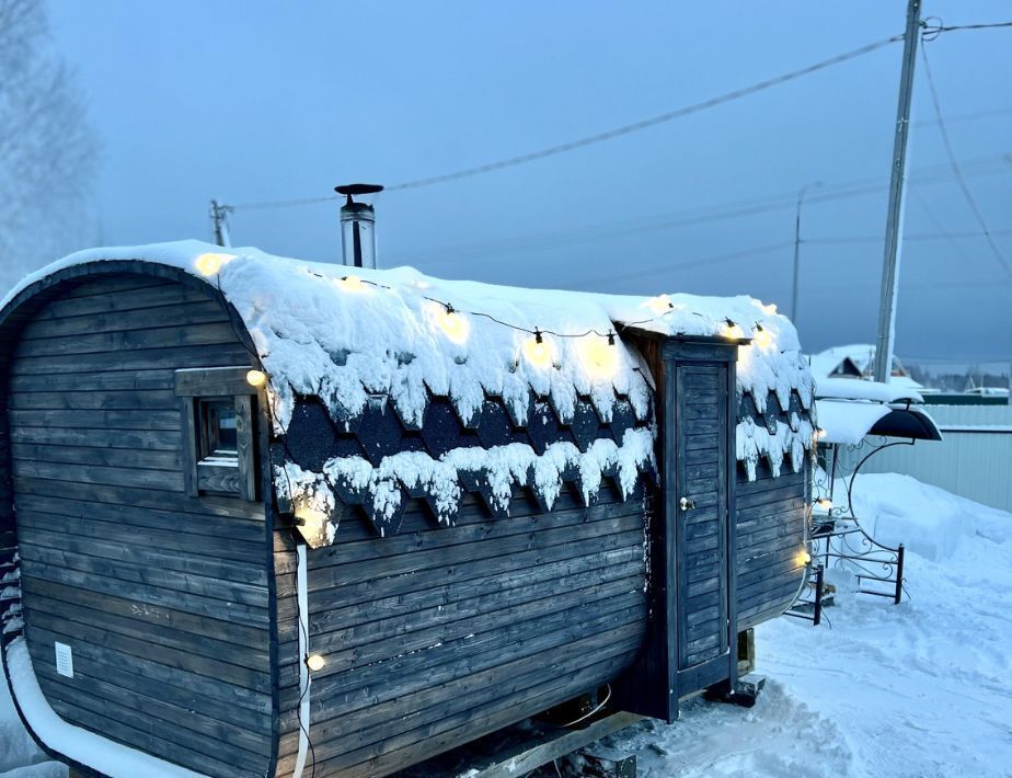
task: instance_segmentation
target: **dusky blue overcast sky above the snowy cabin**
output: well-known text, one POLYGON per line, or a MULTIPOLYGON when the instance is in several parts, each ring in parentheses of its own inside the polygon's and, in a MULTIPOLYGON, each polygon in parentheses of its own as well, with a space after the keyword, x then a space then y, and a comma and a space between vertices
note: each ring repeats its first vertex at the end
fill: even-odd
MULTIPOLYGON (((211 197, 394 184, 646 118, 902 32, 905 7, 53 0, 51 21, 104 144, 102 240, 139 243, 209 239, 211 197)), ((1012 7, 925 0, 924 15, 1005 21, 1012 7)), ((947 33, 927 52, 967 184, 1012 264, 1012 30, 947 33)), ((794 198, 821 181, 803 211, 802 342, 871 342, 900 55, 894 44, 623 138, 383 193, 380 263, 526 286, 750 294, 786 310, 794 198), (758 201, 771 205, 724 213, 758 201)), ((908 163, 916 239, 897 352, 1012 359, 1012 277, 967 234, 979 227, 918 68, 915 121, 929 123, 913 128, 908 163)), ((239 245, 336 260, 336 219, 330 203, 246 210, 231 230, 239 245)))

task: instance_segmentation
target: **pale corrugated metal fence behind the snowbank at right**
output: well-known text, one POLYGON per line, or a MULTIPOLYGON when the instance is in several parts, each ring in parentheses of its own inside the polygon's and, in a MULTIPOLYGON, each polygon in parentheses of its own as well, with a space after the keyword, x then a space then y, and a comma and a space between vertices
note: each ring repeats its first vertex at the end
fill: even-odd
POLYGON ((901 472, 1012 511, 1012 405, 922 405, 945 438, 876 454, 863 472, 901 472))

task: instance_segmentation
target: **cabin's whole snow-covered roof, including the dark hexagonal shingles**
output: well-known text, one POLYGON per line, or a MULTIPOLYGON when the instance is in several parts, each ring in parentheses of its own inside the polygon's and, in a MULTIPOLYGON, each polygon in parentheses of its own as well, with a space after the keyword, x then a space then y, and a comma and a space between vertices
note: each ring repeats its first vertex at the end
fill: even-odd
POLYGON ((813 382, 794 328, 749 297, 520 289, 410 267, 349 276, 343 265, 183 241, 72 254, 0 307, 60 268, 115 260, 203 277, 235 308, 268 377, 276 436, 294 443, 302 425, 323 438, 310 455, 287 445, 273 454, 280 497, 323 517, 320 542, 333 540, 332 517, 348 503, 393 534, 407 496, 449 522, 463 491, 494 512, 515 485, 549 508, 565 480, 588 502, 602 474, 630 493, 654 467, 656 434, 652 378, 623 337, 630 327, 752 337, 739 352, 738 391, 769 421, 739 424, 739 458, 751 473, 763 456, 774 471, 784 455, 798 469, 810 448, 813 382))

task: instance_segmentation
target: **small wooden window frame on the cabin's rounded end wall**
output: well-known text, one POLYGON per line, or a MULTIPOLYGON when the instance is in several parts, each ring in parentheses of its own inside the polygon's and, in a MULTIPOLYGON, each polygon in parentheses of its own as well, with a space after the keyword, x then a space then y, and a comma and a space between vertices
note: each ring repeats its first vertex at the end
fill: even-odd
POLYGON ((256 501, 254 402, 257 391, 246 381, 250 367, 187 368, 175 371, 183 445, 181 465, 186 493, 256 501), (231 400, 235 409, 235 464, 216 460, 208 444, 205 409, 231 400))

